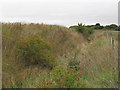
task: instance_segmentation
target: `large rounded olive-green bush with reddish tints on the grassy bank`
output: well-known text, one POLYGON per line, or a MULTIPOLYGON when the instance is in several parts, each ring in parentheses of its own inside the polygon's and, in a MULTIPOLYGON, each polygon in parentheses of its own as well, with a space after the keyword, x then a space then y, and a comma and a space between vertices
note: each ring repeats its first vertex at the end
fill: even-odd
POLYGON ((24 37, 17 42, 17 51, 26 63, 53 67, 55 57, 52 54, 51 43, 42 39, 40 35, 24 37))

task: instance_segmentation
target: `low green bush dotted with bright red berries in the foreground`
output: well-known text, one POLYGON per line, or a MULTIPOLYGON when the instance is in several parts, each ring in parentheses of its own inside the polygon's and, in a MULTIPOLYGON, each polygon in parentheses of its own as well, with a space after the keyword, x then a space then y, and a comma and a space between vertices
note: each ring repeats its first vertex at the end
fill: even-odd
POLYGON ((85 76, 76 72, 73 67, 66 70, 63 66, 54 67, 50 73, 50 80, 43 80, 41 88, 84 88, 85 76))

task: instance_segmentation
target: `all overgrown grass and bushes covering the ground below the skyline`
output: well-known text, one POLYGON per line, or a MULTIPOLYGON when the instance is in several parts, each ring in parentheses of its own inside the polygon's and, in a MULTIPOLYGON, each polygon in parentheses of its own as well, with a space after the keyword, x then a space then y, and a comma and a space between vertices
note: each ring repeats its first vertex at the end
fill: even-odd
POLYGON ((117 59, 107 33, 117 32, 75 28, 3 23, 3 88, 116 88, 117 59))

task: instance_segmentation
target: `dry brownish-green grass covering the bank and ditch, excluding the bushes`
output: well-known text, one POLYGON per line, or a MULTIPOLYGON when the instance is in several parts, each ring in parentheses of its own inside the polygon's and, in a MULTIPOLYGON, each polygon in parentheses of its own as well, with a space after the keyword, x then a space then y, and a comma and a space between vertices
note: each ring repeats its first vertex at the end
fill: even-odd
MULTIPOLYGON (((57 67, 59 69, 59 66, 62 66, 68 72, 70 66, 77 65, 78 69, 74 72, 85 76, 84 84, 82 83, 84 88, 117 88, 117 50, 117 31, 96 30, 88 41, 74 29, 59 25, 4 23, 2 24, 2 87, 41 88, 42 81, 50 80, 50 72, 57 67), (32 35, 38 35, 51 43, 52 54, 56 60, 51 69, 47 66, 42 67, 41 64, 26 64, 17 53, 18 41, 32 35), (111 38, 114 38, 114 43, 111 42, 111 38)), ((67 74, 63 80, 66 80, 66 76, 67 74)), ((70 76, 67 78, 69 79, 64 81, 66 86, 53 81, 58 85, 54 87, 69 88, 73 82, 69 83, 70 76)), ((74 85, 75 83, 78 84, 77 81, 74 85)))

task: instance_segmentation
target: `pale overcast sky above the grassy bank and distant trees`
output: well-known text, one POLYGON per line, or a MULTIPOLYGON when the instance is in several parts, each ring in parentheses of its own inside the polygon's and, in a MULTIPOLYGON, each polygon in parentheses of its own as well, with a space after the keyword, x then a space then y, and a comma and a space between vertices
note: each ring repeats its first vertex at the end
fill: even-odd
POLYGON ((63 26, 118 23, 119 0, 0 0, 0 22, 63 26))

